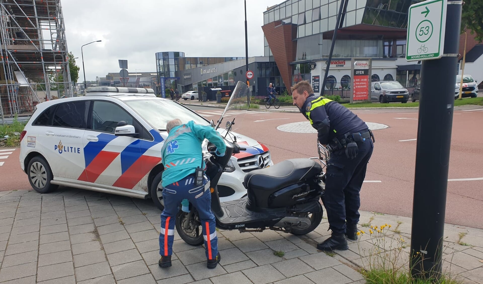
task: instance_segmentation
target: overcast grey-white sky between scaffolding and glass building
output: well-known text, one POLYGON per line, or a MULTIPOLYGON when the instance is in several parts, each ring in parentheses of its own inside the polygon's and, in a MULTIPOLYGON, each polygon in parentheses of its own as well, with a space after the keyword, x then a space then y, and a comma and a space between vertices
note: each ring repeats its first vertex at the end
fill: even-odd
MULTIPOLYGON (((283 0, 247 0, 248 56, 263 56, 263 12, 283 0)), ((244 57, 243 0, 61 0, 69 51, 85 79, 119 72, 156 72, 156 52, 187 57, 244 57), (138 69, 138 70, 136 70, 138 69)))

